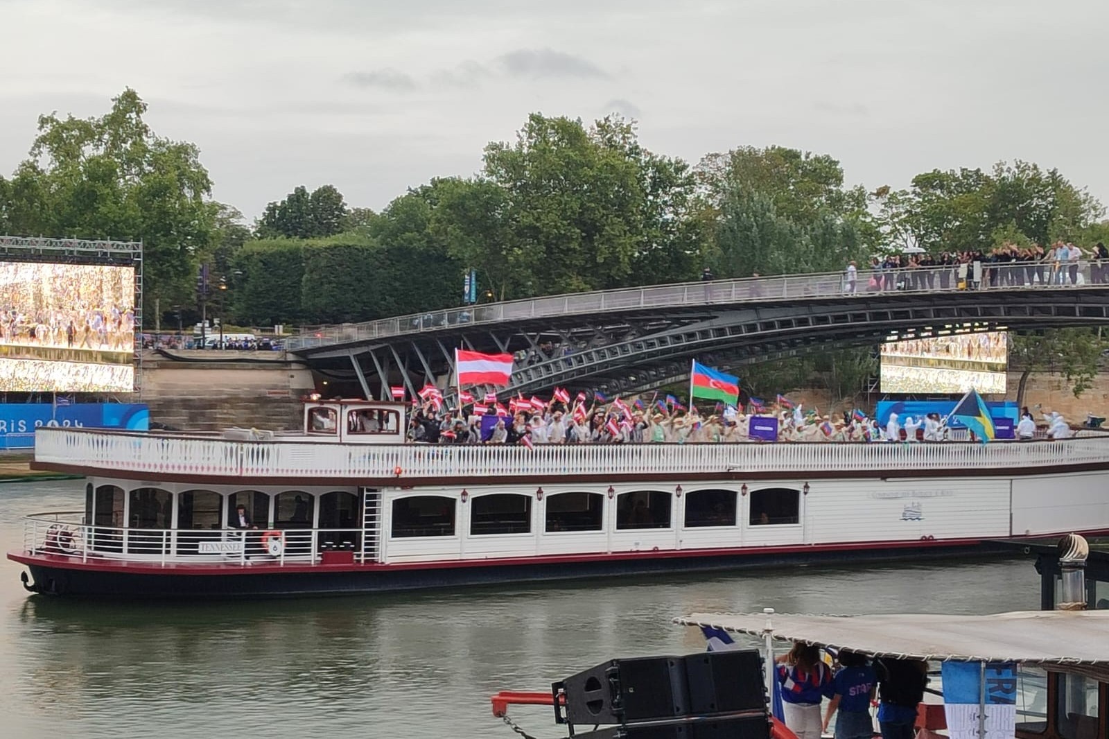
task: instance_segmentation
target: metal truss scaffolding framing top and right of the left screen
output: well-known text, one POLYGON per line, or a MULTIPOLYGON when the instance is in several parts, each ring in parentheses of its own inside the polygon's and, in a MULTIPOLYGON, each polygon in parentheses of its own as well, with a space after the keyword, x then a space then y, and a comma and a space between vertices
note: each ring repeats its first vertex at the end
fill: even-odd
POLYGON ((104 264, 134 267, 134 392, 142 386, 142 242, 89 239, 44 239, 0 235, 0 262, 49 262, 54 264, 104 264))

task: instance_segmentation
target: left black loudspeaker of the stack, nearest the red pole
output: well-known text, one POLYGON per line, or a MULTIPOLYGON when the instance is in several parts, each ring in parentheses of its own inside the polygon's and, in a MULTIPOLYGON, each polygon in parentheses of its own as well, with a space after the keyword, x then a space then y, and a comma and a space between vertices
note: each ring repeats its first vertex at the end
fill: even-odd
POLYGON ((681 657, 612 659, 551 686, 569 723, 623 723, 689 713, 681 657))

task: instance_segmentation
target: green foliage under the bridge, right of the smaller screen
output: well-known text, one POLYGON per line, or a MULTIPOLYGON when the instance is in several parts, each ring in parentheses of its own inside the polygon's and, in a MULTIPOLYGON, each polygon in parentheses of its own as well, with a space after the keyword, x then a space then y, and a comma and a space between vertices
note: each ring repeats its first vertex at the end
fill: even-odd
POLYGON ((1038 333, 1009 334, 1009 363, 1019 367, 1017 406, 1025 404, 1025 389, 1034 372, 1062 375, 1078 397, 1093 383, 1107 343, 1096 328, 1048 328, 1038 333))

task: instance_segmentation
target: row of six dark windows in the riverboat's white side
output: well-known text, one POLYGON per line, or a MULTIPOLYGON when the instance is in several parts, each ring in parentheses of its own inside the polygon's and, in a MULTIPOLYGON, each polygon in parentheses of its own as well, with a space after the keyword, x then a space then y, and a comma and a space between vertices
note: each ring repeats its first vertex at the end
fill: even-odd
MULTIPOLYGON (((530 534, 530 495, 496 493, 470 499, 470 536, 530 534)), ((747 523, 751 526, 797 524, 801 493, 791 488, 765 488, 750 495, 747 523)), ((394 538, 454 536, 457 499, 419 495, 393 502, 394 538)), ((673 494, 662 490, 622 493, 615 498, 617 529, 671 528, 673 494)), ((704 489, 685 497, 685 528, 735 526, 739 523, 735 490, 704 489)), ((547 497, 543 530, 604 530, 604 496, 599 493, 557 493, 547 497)))

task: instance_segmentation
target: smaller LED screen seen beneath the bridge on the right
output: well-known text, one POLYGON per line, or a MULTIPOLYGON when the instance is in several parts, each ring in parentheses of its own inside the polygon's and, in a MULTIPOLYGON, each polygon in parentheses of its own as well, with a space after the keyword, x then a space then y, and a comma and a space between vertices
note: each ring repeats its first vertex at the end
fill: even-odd
POLYGON ((882 345, 883 393, 1005 393, 1005 332, 910 338, 882 345))

